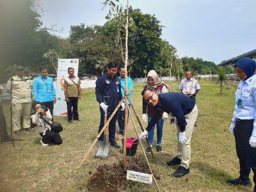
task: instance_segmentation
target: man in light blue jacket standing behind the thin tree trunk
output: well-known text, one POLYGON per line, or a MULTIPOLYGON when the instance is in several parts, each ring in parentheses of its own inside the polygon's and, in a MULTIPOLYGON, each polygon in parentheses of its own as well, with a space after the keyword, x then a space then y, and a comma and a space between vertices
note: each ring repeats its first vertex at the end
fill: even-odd
MULTIPOLYGON (((125 87, 125 70, 124 70, 124 66, 122 65, 120 68, 119 68, 119 79, 120 79, 120 82, 121 82, 121 86, 125 87)), ((127 89, 130 88, 130 91, 128 93, 128 97, 130 98, 130 94, 132 93, 132 90, 133 90, 133 87, 132 87, 132 79, 127 77, 127 89)), ((121 88, 121 92, 122 92, 122 95, 124 96, 124 90, 121 88)), ((124 103, 125 103, 125 100, 124 100, 124 103)), ((128 106, 130 107, 130 102, 128 100, 128 106)), ((129 117, 129 113, 128 113, 128 117, 129 117)), ((118 126, 119 126, 119 132, 118 134, 122 134, 124 135, 124 119, 125 119, 125 108, 123 107, 120 107, 119 108, 119 114, 118 114, 118 126)))

